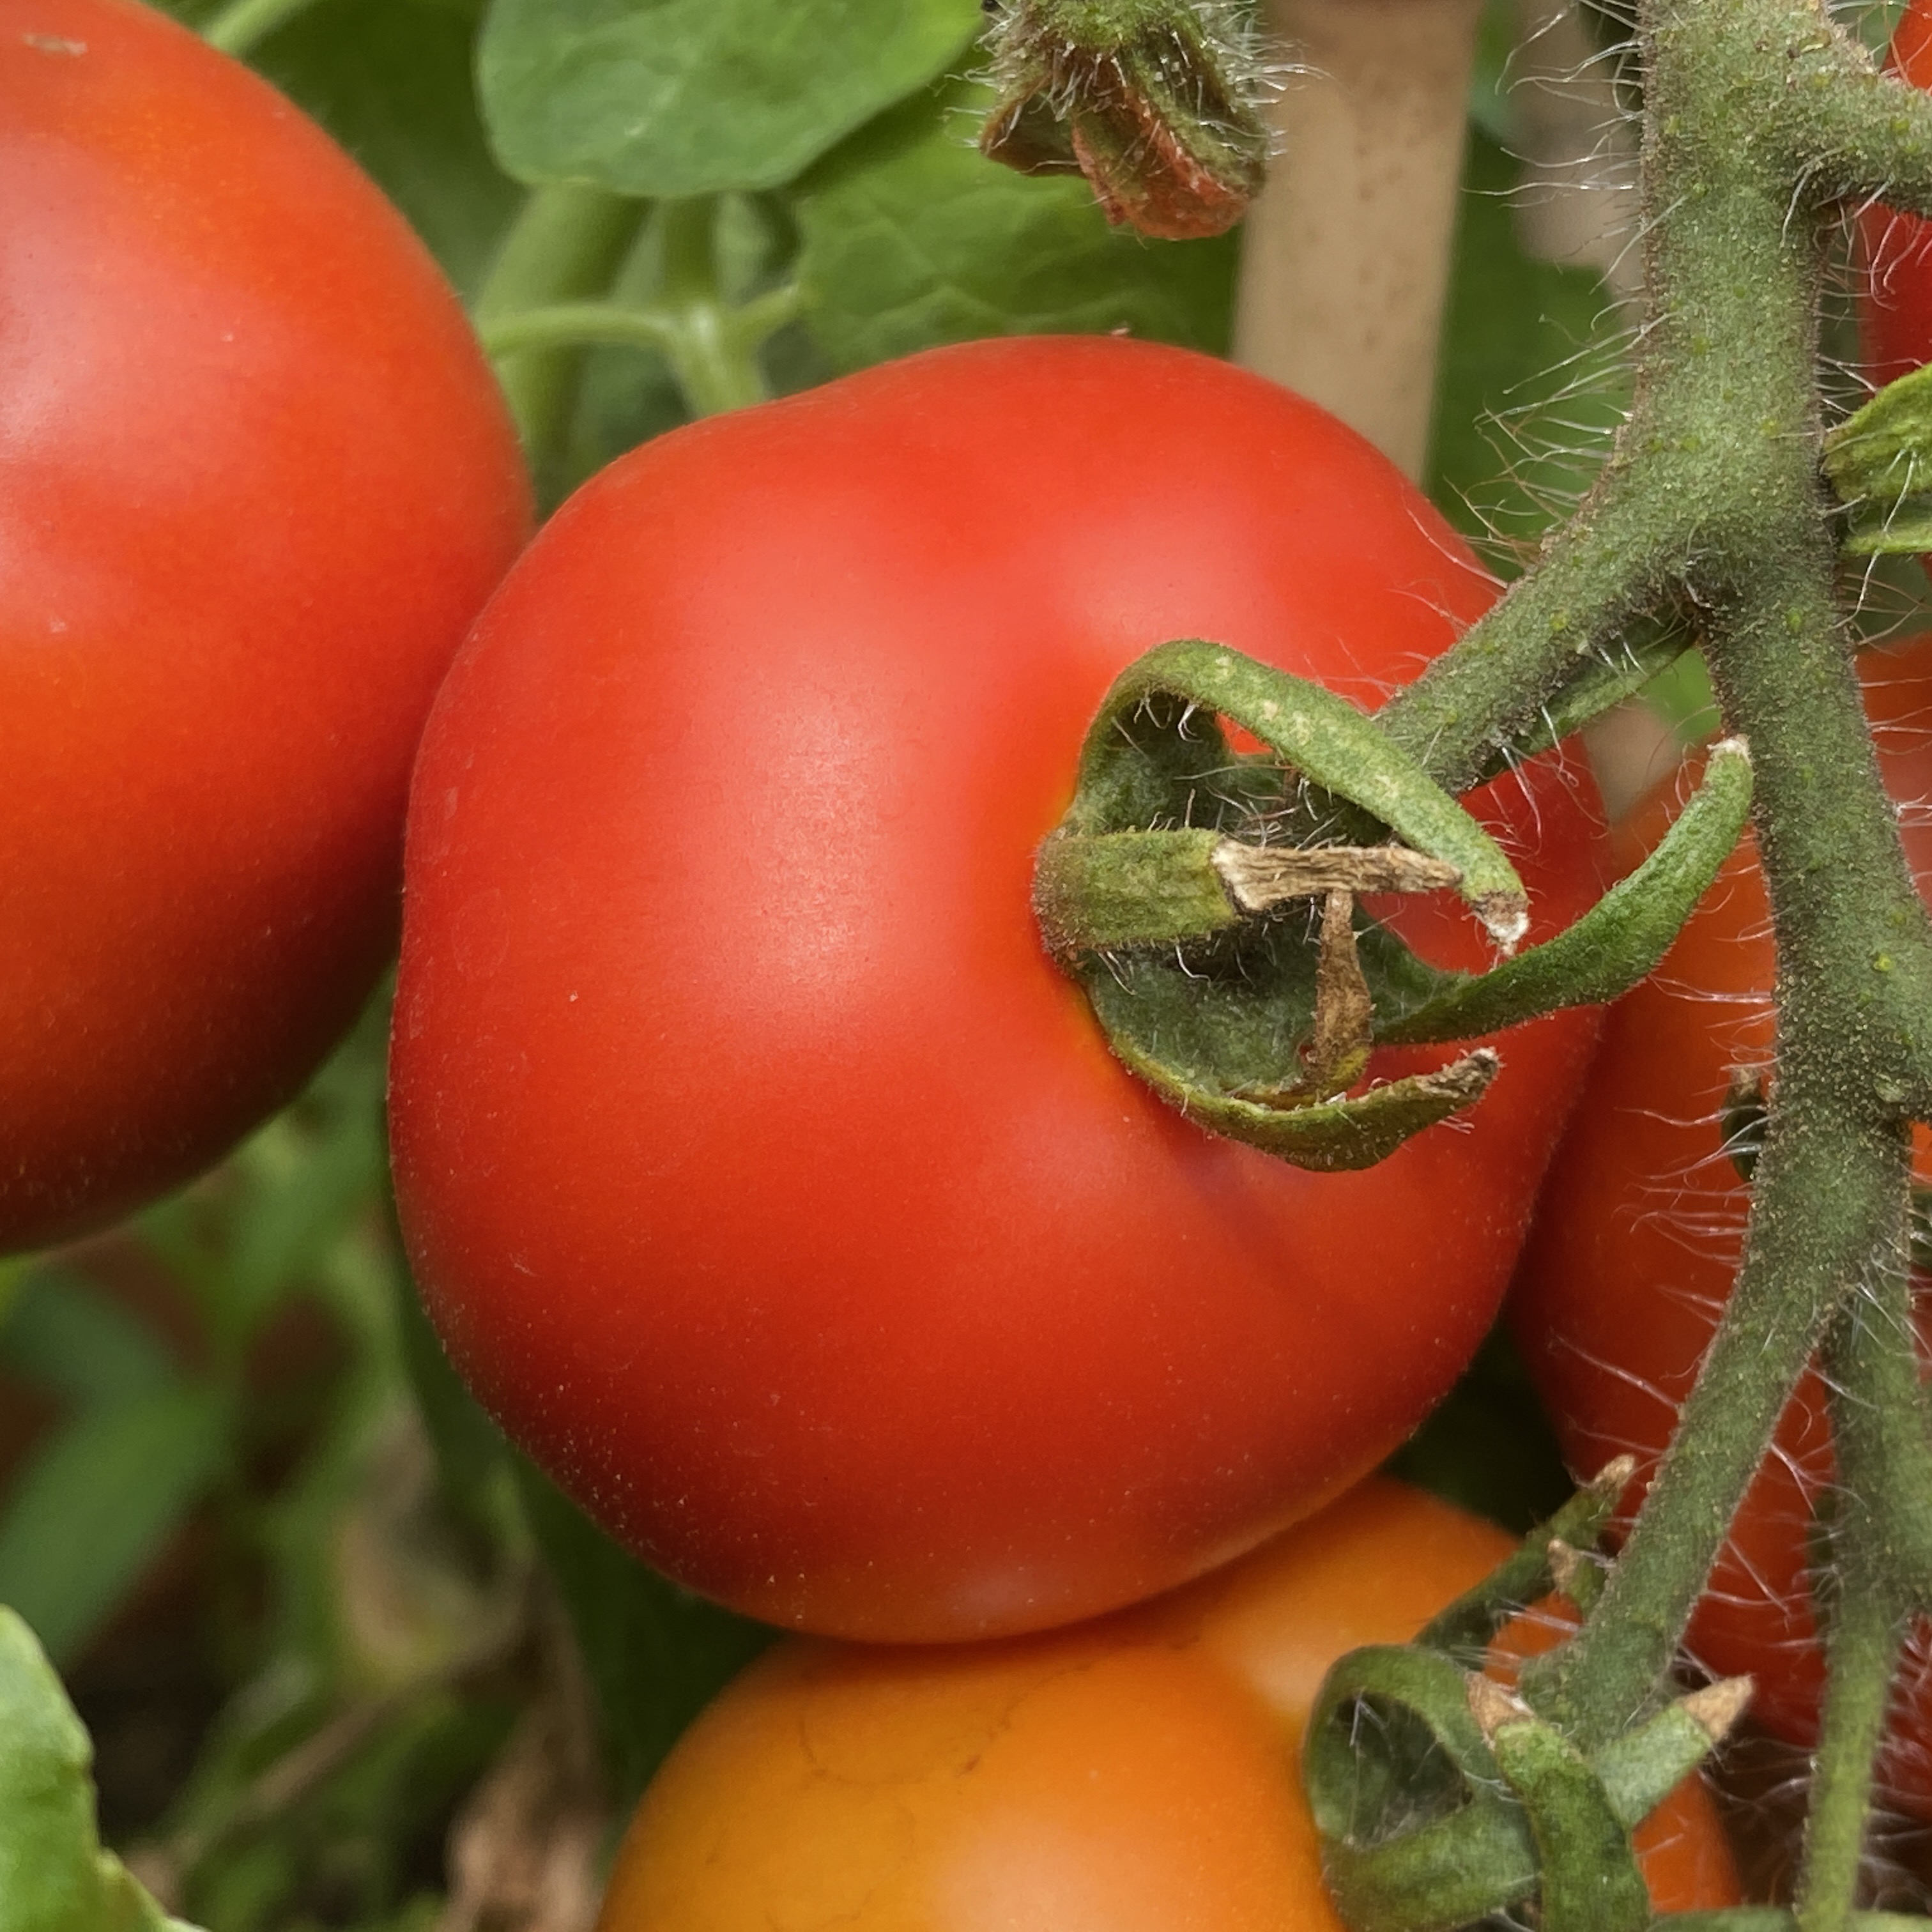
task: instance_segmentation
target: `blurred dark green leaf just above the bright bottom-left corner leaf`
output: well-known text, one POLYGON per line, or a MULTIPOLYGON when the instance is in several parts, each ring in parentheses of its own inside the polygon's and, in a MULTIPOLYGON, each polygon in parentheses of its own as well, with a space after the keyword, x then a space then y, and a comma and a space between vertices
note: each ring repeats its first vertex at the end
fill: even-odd
POLYGON ((0 1515, 0 1602, 56 1658, 114 1611, 228 1447, 211 1389, 162 1389, 83 1408, 21 1470, 0 1515))

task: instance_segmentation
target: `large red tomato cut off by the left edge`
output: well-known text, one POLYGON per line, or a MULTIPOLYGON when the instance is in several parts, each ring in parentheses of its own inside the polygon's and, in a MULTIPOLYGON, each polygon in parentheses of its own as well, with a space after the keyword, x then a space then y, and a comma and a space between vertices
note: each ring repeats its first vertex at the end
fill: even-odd
POLYGON ((527 520, 327 135, 145 8, 0 0, 0 1250, 197 1173, 361 1009, 527 520))

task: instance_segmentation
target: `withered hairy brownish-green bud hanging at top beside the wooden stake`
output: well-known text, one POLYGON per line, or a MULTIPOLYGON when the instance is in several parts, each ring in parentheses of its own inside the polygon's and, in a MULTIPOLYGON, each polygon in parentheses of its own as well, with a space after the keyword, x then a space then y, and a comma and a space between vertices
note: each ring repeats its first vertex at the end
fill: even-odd
POLYGON ((1225 0, 1007 0, 987 46, 991 160, 1084 174, 1107 220, 1169 242, 1227 232, 1260 193, 1262 70, 1225 0))

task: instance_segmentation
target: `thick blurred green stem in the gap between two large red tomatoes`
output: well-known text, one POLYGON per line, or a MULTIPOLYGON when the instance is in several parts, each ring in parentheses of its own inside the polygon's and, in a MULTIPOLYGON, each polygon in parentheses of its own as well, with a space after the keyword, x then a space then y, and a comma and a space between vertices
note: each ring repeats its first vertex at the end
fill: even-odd
MULTIPOLYGON (((531 189, 475 301, 485 342, 524 311, 603 296, 643 216, 645 203, 601 187, 531 189)), ((533 468, 541 469, 562 442, 578 396, 582 350, 582 338, 535 342, 506 350, 497 363, 533 468)))

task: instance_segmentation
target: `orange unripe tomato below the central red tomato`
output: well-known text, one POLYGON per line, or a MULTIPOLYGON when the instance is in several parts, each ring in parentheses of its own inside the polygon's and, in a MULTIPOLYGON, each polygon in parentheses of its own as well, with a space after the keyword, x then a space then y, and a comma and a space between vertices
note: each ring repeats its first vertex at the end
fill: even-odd
MULTIPOLYGON (((659 1770, 599 1932, 1337 1932, 1300 1787, 1321 1677, 1511 1540, 1370 1482, 1099 1623, 958 1650, 790 1640, 659 1770)), ((1696 1777, 1640 1828, 1660 1911, 1737 1903, 1696 1777)))

